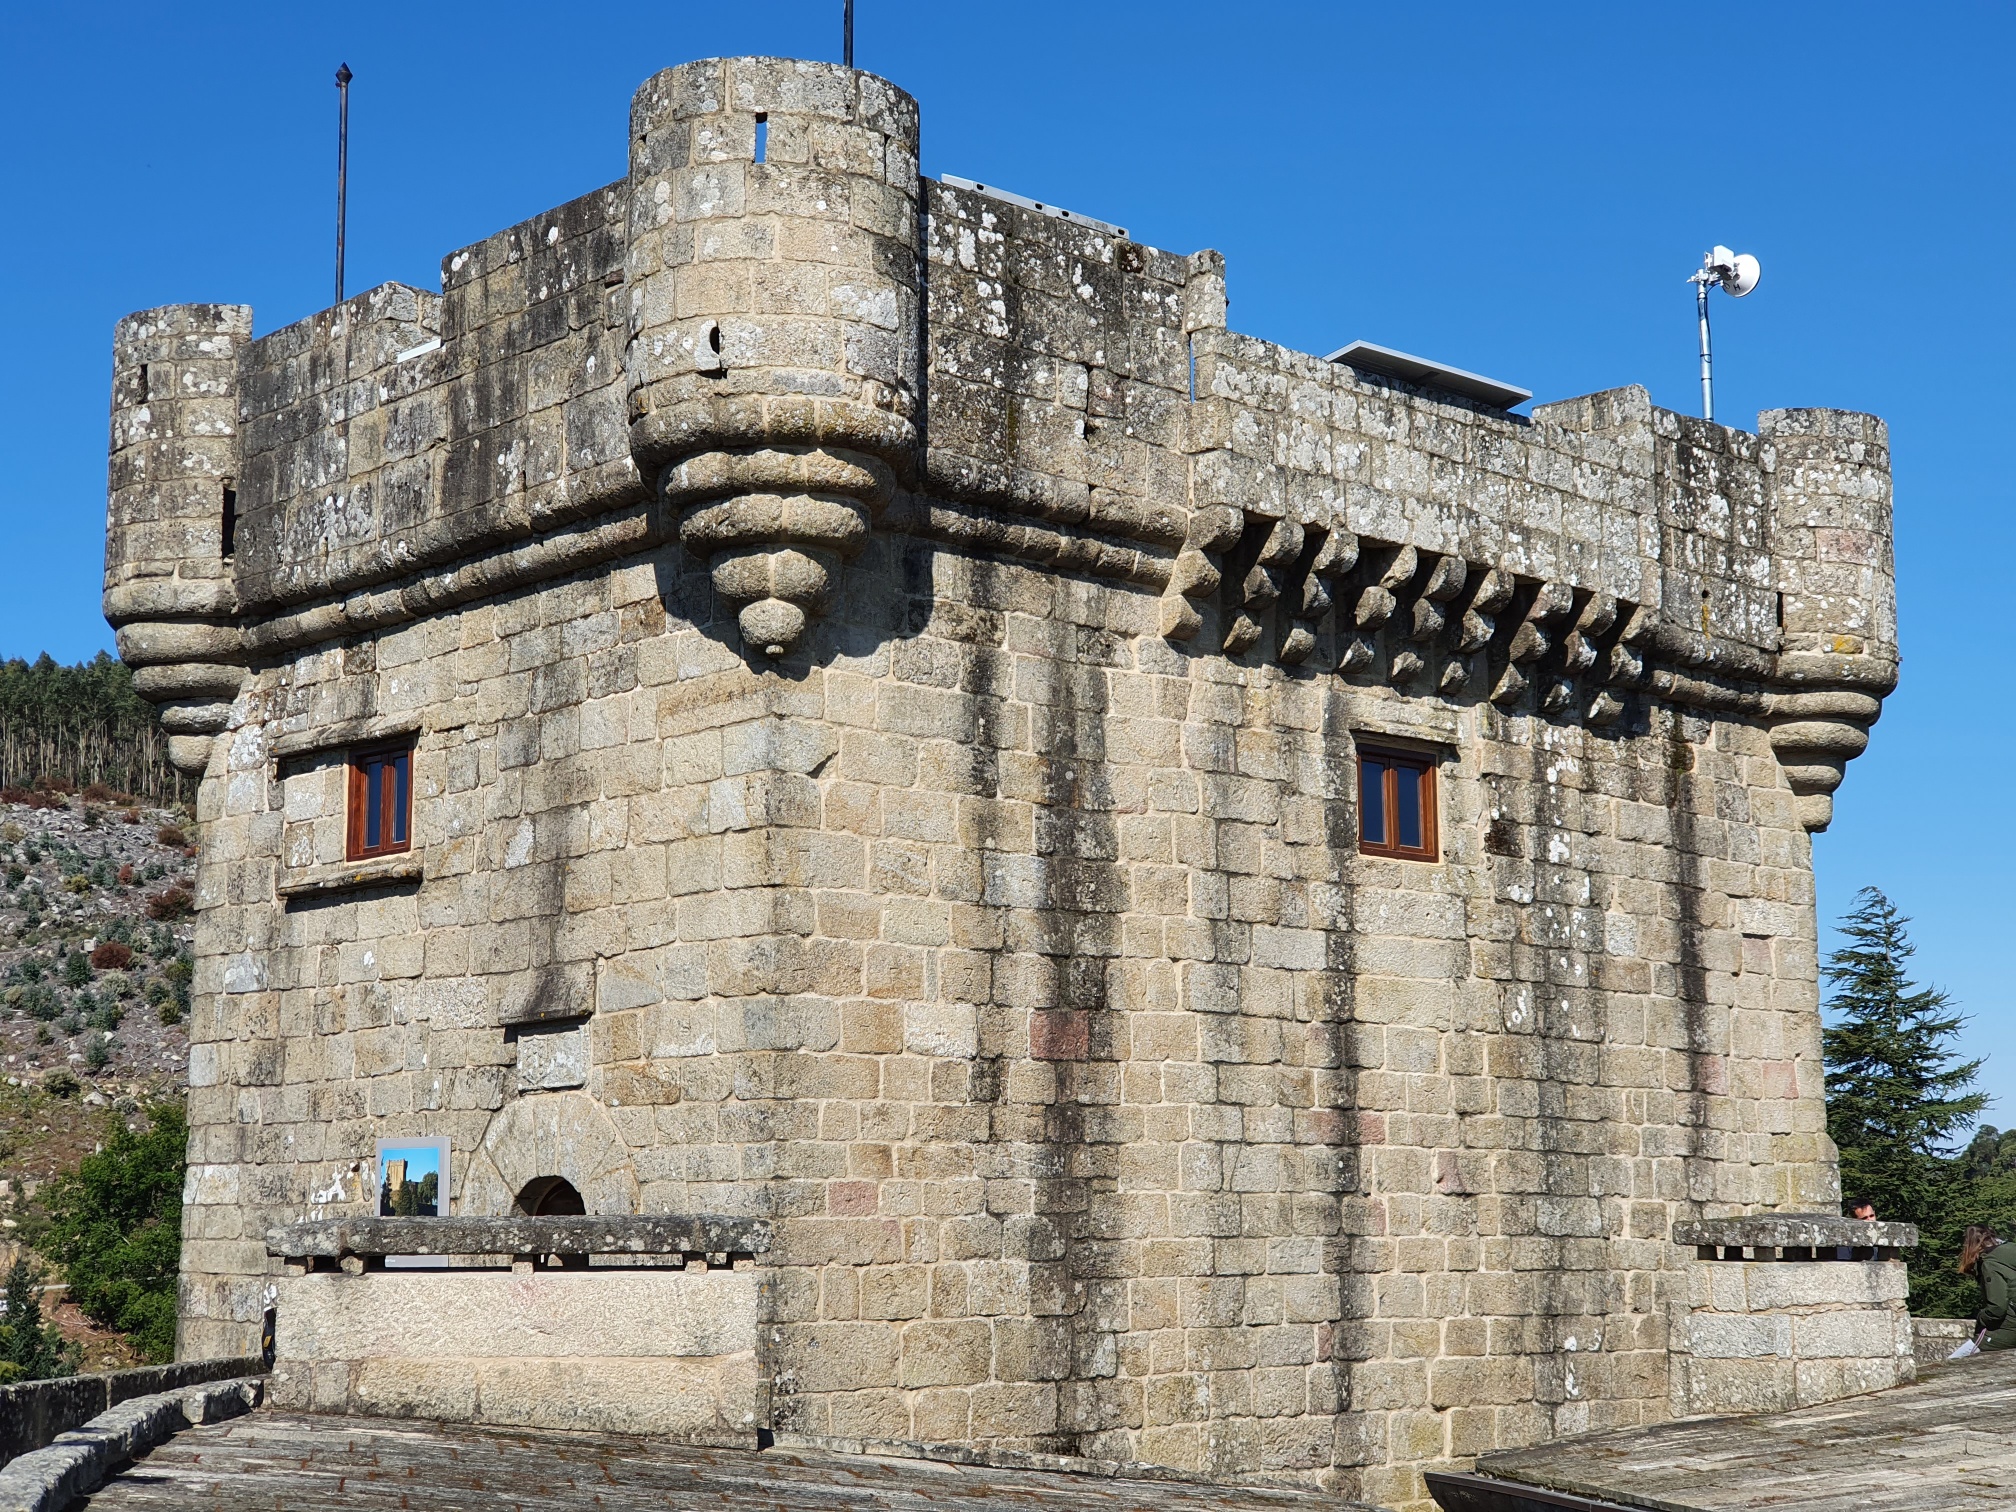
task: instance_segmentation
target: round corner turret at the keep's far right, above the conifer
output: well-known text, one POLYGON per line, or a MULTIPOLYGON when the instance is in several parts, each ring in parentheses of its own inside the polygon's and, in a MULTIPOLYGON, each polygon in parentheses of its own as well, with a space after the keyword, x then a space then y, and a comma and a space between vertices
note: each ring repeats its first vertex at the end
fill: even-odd
POLYGON ((1758 439, 1784 627, 1772 750, 1800 821, 1822 831, 1843 766, 1897 685, 1889 427, 1845 409, 1768 409, 1758 439))

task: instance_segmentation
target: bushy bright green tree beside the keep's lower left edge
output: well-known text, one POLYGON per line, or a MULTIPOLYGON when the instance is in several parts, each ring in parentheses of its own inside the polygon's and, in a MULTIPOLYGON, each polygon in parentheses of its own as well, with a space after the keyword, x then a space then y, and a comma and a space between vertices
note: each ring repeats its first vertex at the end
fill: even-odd
POLYGON ((190 1141, 181 1107, 163 1103, 151 1127, 113 1129, 105 1149, 50 1187, 40 1248, 62 1266, 85 1316, 131 1335, 151 1361, 175 1355, 175 1268, 181 1258, 181 1173, 190 1141))

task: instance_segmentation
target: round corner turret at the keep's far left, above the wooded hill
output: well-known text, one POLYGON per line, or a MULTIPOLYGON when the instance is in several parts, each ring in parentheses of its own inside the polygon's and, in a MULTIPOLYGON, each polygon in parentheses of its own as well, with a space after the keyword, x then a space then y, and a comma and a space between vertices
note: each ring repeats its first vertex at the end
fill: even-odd
POLYGON ((169 760, 202 772, 244 683, 232 579, 248 304, 167 304, 113 331, 105 619, 169 760))

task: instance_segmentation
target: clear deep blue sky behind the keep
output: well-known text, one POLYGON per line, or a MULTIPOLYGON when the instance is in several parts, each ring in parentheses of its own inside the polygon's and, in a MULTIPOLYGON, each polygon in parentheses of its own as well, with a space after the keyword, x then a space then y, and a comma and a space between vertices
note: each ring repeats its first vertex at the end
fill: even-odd
MULTIPOLYGON (((2010 988, 2016 381, 2002 6, 1361 6, 859 0, 857 62, 923 105, 923 167, 1220 248, 1232 325, 1353 337, 1556 399, 1697 403, 1702 250, 1722 417, 1891 425, 1903 687, 1820 837, 1822 917, 1877 883, 1974 1016, 2016 1121, 2010 988), (1996 105, 1996 101, 2004 105, 1996 105)), ((113 321, 329 302, 335 89, 353 93, 351 288, 615 179, 629 95, 722 52, 839 56, 841 0, 0 12, 0 655, 99 619, 113 321), (554 20, 562 30, 550 30, 554 20)))

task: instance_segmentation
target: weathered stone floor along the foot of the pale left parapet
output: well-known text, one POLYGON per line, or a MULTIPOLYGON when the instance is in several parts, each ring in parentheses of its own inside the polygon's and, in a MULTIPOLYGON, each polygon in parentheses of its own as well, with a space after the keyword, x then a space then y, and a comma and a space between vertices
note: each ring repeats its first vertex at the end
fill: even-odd
POLYGON ((278 1411, 177 1433, 75 1506, 91 1512, 1351 1512, 1351 1504, 1310 1492, 278 1411))

